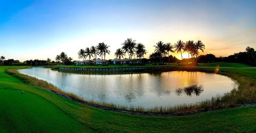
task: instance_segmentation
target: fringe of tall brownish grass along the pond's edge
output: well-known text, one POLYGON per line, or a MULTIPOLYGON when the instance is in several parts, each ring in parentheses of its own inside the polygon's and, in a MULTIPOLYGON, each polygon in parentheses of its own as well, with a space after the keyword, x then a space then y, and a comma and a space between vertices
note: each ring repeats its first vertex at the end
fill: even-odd
MULTIPOLYGON (((216 64, 214 64, 214 65, 216 65, 216 64)), ((237 65, 237 64, 235 64, 235 65, 237 65)), ((221 72, 221 70, 219 70, 219 68, 218 68, 218 72, 215 70, 215 68, 198 68, 198 67, 175 68, 175 70, 179 70, 179 69, 181 69, 181 70, 196 70, 196 71, 208 72, 208 73, 219 73, 222 75, 232 77, 233 79, 235 79, 235 81, 238 82, 239 86, 237 89, 231 91, 230 93, 215 96, 215 97, 212 97, 211 99, 206 99, 205 101, 202 101, 199 103, 180 104, 180 105, 175 105, 173 107, 143 108, 143 107, 126 107, 126 106, 122 106, 122 105, 116 105, 113 103, 98 103, 98 102, 94 102, 94 101, 88 101, 88 102, 98 104, 98 105, 103 105, 105 107, 110 107, 113 109, 130 110, 130 111, 137 111, 137 112, 153 112, 153 113, 186 113, 186 112, 191 112, 191 111, 211 110, 214 108, 230 106, 230 105, 234 105, 234 104, 256 102, 256 99, 254 98, 254 96, 256 95, 256 92, 255 92, 256 84, 254 84, 255 80, 251 79, 250 77, 240 76, 238 74, 226 72, 225 70, 223 70, 223 72, 221 72)), ((59 90, 57 87, 55 87, 47 82, 39 80, 35 77, 30 77, 30 76, 27 76, 24 74, 20 74, 15 69, 7 70, 7 73, 21 79, 21 81, 23 81, 29 85, 34 85, 34 86, 38 86, 41 88, 48 88, 50 90, 53 90, 54 92, 59 92, 59 93, 65 94, 71 98, 82 100, 78 96, 76 96, 74 94, 70 94, 70 93, 65 93, 65 92, 59 90)))

